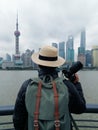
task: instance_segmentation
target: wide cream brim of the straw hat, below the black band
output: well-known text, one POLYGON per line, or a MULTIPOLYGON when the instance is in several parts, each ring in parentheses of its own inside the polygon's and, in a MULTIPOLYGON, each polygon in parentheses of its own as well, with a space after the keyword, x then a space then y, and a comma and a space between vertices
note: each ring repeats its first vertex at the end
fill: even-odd
POLYGON ((65 63, 65 59, 63 59, 60 56, 58 56, 58 59, 56 61, 40 60, 39 53, 32 54, 31 59, 34 63, 36 63, 38 65, 49 66, 49 67, 58 67, 65 63))

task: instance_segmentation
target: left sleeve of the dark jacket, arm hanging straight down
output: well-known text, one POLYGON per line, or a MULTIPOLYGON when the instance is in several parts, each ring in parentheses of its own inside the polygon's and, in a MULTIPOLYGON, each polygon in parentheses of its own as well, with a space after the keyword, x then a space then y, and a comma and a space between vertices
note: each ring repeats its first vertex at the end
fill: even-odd
POLYGON ((25 106, 25 92, 30 81, 31 79, 25 81, 22 84, 16 98, 14 113, 13 113, 13 124, 15 130, 25 130, 26 129, 25 127, 27 127, 26 124, 27 124, 28 114, 25 106))

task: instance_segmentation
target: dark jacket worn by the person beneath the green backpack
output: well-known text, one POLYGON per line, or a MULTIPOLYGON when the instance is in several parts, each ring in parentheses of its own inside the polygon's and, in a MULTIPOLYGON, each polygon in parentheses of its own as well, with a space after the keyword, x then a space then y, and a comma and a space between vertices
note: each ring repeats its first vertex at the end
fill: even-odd
MULTIPOLYGON (((48 70, 48 72, 50 71, 48 70)), ((46 73, 43 73, 43 71, 39 72, 40 78, 43 78, 44 75, 46 75, 46 73)), ((51 75, 53 78, 58 77, 57 72, 52 72, 51 75)), ((13 123, 14 123, 15 130, 25 130, 25 129, 27 130, 26 123, 27 123, 28 113, 25 106, 25 92, 30 81, 31 79, 26 80, 22 84, 19 93, 17 95, 14 114, 13 114, 13 123)), ((64 80, 64 83, 67 85, 69 91, 70 113, 75 113, 75 114, 83 113, 86 109, 86 102, 83 96, 81 84, 79 82, 73 84, 72 82, 66 79, 64 80)))

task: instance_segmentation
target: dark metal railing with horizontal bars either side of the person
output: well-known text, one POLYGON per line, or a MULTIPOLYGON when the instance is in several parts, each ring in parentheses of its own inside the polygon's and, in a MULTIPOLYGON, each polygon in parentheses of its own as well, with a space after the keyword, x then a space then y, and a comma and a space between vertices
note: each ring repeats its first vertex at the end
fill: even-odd
MULTIPOLYGON (((12 122, 13 110, 14 106, 0 106, 0 130, 14 130, 12 122)), ((97 104, 87 104, 85 113, 72 115, 79 130, 98 130, 97 104)))

